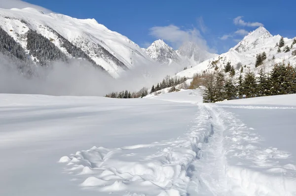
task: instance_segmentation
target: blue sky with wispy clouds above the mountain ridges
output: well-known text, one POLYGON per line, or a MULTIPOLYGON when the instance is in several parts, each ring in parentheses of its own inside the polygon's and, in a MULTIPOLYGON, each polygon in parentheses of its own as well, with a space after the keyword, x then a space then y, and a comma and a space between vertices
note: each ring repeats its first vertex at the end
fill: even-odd
POLYGON ((177 49, 193 40, 223 53, 260 25, 274 35, 296 36, 295 0, 24 1, 75 18, 95 18, 141 47, 162 38, 177 49))

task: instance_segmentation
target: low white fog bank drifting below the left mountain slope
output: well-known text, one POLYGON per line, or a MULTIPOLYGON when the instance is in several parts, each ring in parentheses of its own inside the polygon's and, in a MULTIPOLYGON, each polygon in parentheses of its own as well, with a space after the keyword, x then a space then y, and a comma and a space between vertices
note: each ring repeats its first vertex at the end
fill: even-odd
POLYGON ((166 75, 173 76, 180 65, 138 65, 118 79, 112 78, 85 61, 54 62, 49 67, 33 65, 35 74, 27 77, 17 67, 0 55, 0 93, 42 94, 54 96, 104 96, 113 91, 139 91, 143 87, 161 82, 166 75))

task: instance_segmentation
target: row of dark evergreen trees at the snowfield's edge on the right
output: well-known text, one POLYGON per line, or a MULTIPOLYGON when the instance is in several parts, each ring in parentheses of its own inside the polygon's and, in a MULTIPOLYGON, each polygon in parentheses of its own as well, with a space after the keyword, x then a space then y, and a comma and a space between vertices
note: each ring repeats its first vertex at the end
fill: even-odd
POLYGON ((270 73, 261 68, 257 77, 249 70, 236 79, 216 72, 207 74, 205 80, 204 102, 296 93, 296 67, 284 63, 274 65, 270 73))

